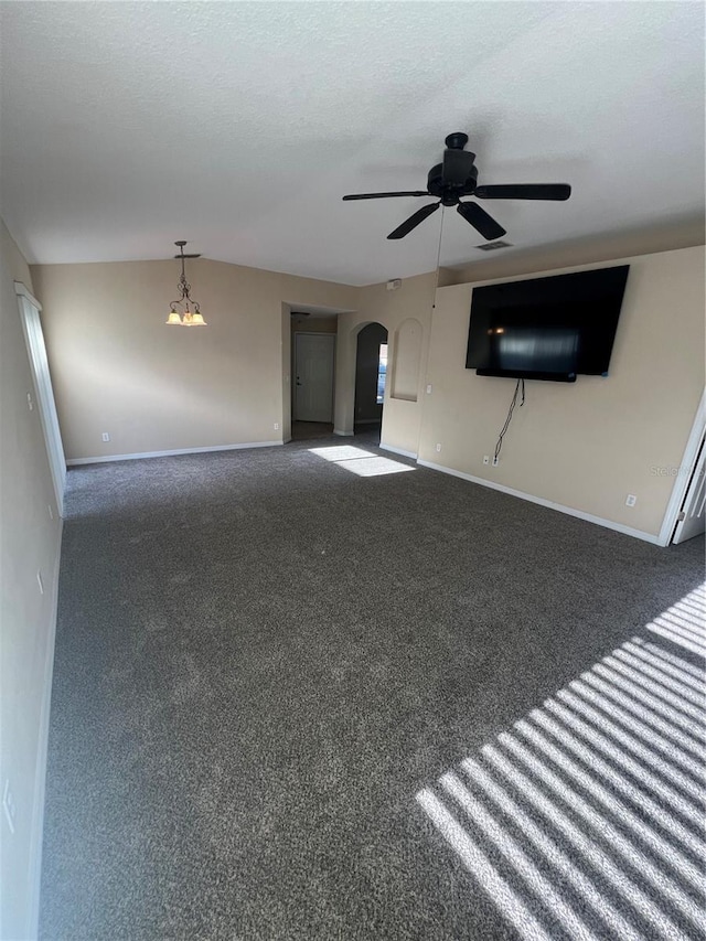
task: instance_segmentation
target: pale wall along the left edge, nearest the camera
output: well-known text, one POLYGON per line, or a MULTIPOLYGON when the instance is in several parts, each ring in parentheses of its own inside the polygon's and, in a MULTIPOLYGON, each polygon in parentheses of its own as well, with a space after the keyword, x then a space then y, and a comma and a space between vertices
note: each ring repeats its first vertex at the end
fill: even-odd
POLYGON ((36 928, 61 541, 39 411, 28 408, 28 393, 35 395, 14 280, 32 290, 26 263, 0 223, 0 787, 10 781, 17 806, 14 834, 0 814, 0 937, 8 939, 36 928))

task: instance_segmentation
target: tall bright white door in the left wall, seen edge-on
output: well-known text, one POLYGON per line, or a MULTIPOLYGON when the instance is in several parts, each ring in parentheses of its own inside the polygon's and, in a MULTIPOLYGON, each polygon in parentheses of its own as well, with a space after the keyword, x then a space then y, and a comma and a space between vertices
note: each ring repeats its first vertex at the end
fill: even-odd
POLYGON ((14 290, 18 296, 20 319, 22 320, 22 330, 24 332, 24 341, 26 343, 26 352, 34 382, 36 405, 40 411, 44 443, 46 445, 46 455, 54 483, 56 509, 58 510, 58 514, 63 516, 66 459, 64 458, 64 446, 62 445, 62 436, 58 428, 52 377, 49 372, 46 346, 44 344, 44 334, 42 333, 42 321, 40 319, 42 306, 20 281, 14 282, 14 290))

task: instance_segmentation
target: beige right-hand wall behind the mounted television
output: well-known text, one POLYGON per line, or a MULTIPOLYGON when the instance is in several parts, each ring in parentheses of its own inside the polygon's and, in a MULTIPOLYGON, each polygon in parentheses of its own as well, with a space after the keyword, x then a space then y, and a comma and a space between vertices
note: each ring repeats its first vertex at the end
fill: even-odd
POLYGON ((610 264, 625 263, 609 377, 528 382, 498 468, 482 459, 493 455, 514 383, 464 368, 472 285, 439 288, 419 458, 657 535, 674 478, 652 468, 680 466, 704 388, 704 250, 610 264))

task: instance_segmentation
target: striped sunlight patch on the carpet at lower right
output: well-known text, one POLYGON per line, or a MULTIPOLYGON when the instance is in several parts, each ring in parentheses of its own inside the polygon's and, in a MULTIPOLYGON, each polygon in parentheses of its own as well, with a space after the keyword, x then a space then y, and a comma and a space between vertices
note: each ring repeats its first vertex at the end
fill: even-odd
MULTIPOLYGON (((646 629, 700 653, 705 605, 702 587, 646 629)), ((702 939, 705 694, 699 666, 633 637, 417 803, 524 941, 702 939)))

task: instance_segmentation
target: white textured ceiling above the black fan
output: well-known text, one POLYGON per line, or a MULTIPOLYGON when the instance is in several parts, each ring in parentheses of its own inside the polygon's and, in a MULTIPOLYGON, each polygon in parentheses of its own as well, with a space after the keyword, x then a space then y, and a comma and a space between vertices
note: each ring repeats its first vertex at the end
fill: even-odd
MULTIPOLYGON (((210 258, 347 284, 430 270, 385 236, 463 130, 521 252, 704 210, 700 2, 2 2, 1 211, 31 261, 210 258)), ((485 258, 446 212, 441 264, 485 258)))

